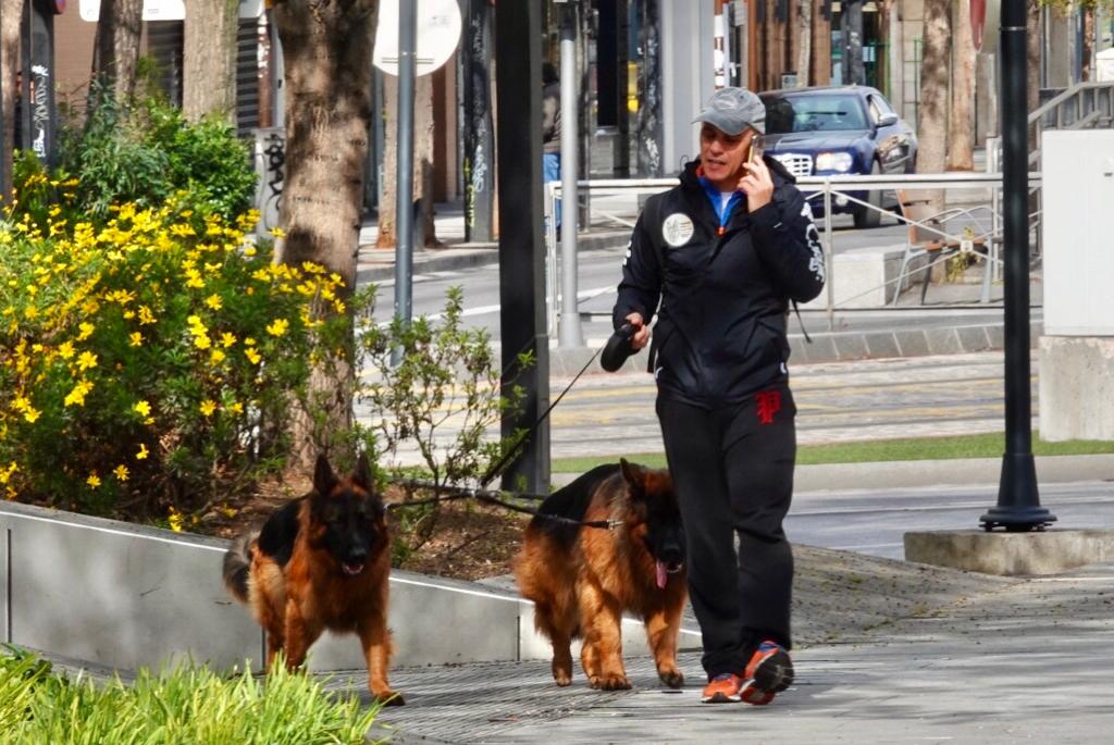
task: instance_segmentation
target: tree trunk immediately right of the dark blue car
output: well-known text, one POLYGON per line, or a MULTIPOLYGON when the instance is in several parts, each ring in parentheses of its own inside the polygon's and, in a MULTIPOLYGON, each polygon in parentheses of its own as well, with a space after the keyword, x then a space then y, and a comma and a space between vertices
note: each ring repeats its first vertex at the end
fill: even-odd
MULTIPOLYGON (((925 0, 925 47, 920 65, 920 110, 917 116, 917 173, 944 170, 948 131, 948 2, 925 0)), ((942 207, 942 195, 932 195, 942 207)))

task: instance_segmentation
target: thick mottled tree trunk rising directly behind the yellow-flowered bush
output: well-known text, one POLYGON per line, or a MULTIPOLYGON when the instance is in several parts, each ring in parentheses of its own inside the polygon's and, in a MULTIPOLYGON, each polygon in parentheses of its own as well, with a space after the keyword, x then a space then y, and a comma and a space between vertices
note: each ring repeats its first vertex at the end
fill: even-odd
MULTIPOLYGON (((278 0, 274 21, 285 60, 286 175, 276 259, 315 262, 355 287, 363 216, 363 178, 371 124, 371 56, 375 0, 278 0)), ((343 363, 342 363, 343 364, 343 363)), ((309 468, 330 435, 351 424, 351 366, 315 373, 310 395, 324 409, 295 416, 293 467, 309 468), (320 429, 319 429, 320 428, 320 429)))

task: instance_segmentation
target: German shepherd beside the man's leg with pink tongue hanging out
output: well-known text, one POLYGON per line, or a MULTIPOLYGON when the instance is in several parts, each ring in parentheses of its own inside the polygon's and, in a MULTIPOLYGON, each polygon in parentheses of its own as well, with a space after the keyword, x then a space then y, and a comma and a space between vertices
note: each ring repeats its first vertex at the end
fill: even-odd
POLYGON ((515 577, 522 596, 535 602, 535 626, 553 643, 557 685, 571 683, 569 643, 583 637, 580 664, 588 684, 629 688, 619 625, 623 612, 631 611, 645 621, 657 675, 680 688, 685 538, 668 472, 626 460, 599 465, 550 494, 539 512, 515 557, 515 577), (608 530, 545 514, 617 525, 608 530))

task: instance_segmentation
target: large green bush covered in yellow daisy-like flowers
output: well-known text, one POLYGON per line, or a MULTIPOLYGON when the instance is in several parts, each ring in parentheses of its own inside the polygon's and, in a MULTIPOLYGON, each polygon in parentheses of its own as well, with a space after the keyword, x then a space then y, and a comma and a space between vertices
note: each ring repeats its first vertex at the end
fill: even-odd
POLYGON ((254 215, 177 195, 95 226, 27 209, 72 185, 35 178, 0 220, 0 493, 180 527, 281 469, 292 401, 351 333, 340 277, 273 264, 254 215))

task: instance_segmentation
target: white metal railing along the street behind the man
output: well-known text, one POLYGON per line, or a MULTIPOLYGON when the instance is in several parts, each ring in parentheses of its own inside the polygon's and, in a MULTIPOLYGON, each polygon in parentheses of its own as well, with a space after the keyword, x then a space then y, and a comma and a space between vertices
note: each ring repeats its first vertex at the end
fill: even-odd
MULTIPOLYGON (((577 188, 583 195, 592 196, 592 209, 589 214, 589 219, 587 225, 614 225, 624 229, 629 229, 634 226, 634 220, 637 218, 637 213, 641 210, 641 203, 637 202, 641 195, 652 195, 664 192, 677 185, 676 178, 647 178, 647 179, 589 179, 578 182, 577 188), (631 198, 635 199, 634 214, 631 210, 608 210, 600 203, 606 204, 606 197, 623 196, 628 200, 631 198)), ((890 285, 895 283, 902 283, 909 278, 908 274, 899 275, 893 278, 883 278, 880 285, 869 287, 858 295, 851 297, 840 298, 838 304, 836 301, 836 262, 833 252, 833 239, 834 229, 832 226, 833 207, 840 206, 846 207, 848 204, 860 205, 863 209, 876 209, 883 213, 885 215, 890 215, 898 219, 907 226, 917 226, 920 228, 927 228, 940 236, 941 239, 949 242, 977 242, 985 246, 985 254, 979 252, 973 252, 976 259, 987 262, 987 271, 984 276, 984 290, 981 302, 986 303, 989 300, 988 287, 993 280, 997 280, 997 273, 995 266, 1000 263, 998 252, 1001 245, 1001 218, 1000 208, 1001 204, 1001 174, 1000 173, 949 173, 949 174, 911 174, 911 175, 899 175, 899 176, 812 176, 803 177, 797 179, 798 187, 805 193, 805 197, 815 204, 823 205, 823 215, 818 220, 818 228, 821 231, 821 239, 824 249, 824 259, 828 267, 827 275, 827 290, 824 295, 823 310, 827 312, 829 321, 833 318, 833 312, 837 306, 847 306, 852 301, 860 298, 870 292, 878 292, 880 288, 883 290, 882 296, 888 296, 890 285), (970 192, 983 189, 986 192, 981 199, 976 198, 975 204, 985 204, 988 215, 989 225, 979 225, 978 232, 973 234, 969 228, 970 225, 960 225, 951 231, 944 229, 940 225, 934 225, 930 220, 918 222, 909 219, 901 214, 900 210, 895 213, 892 208, 886 206, 876 206, 870 204, 869 200, 862 199, 861 195, 863 192, 942 192, 945 195, 952 192, 970 192)), ((1030 189, 1040 188, 1040 174, 1030 173, 1029 174, 1029 187, 1030 189)), ((545 205, 544 212, 546 215, 546 286, 547 286, 547 316, 549 323, 550 335, 555 334, 557 329, 557 322, 559 317, 560 307, 560 287, 564 286, 560 277, 560 262, 559 262, 559 251, 557 241, 557 227, 553 215, 555 214, 556 202, 560 198, 560 184, 554 182, 546 185, 545 189, 545 205)), ((965 205, 970 206, 973 203, 970 199, 964 202, 965 205)), ((1029 216, 1030 234, 1036 229, 1039 222, 1039 213, 1032 214, 1029 216)), ((1039 231, 1036 231, 1039 234, 1039 231)), ((912 238, 910 236, 905 237, 901 241, 895 243, 895 246, 902 246, 905 249, 903 258, 908 256, 910 251, 915 249, 912 238)), ((946 257, 930 262, 931 264, 944 261, 946 257)), ((918 266, 916 272, 928 271, 929 266, 918 266)), ((911 274, 911 273, 910 273, 911 274)), ((898 288, 900 291, 900 287, 898 288)), ((582 301, 584 297, 580 298, 582 301)))

